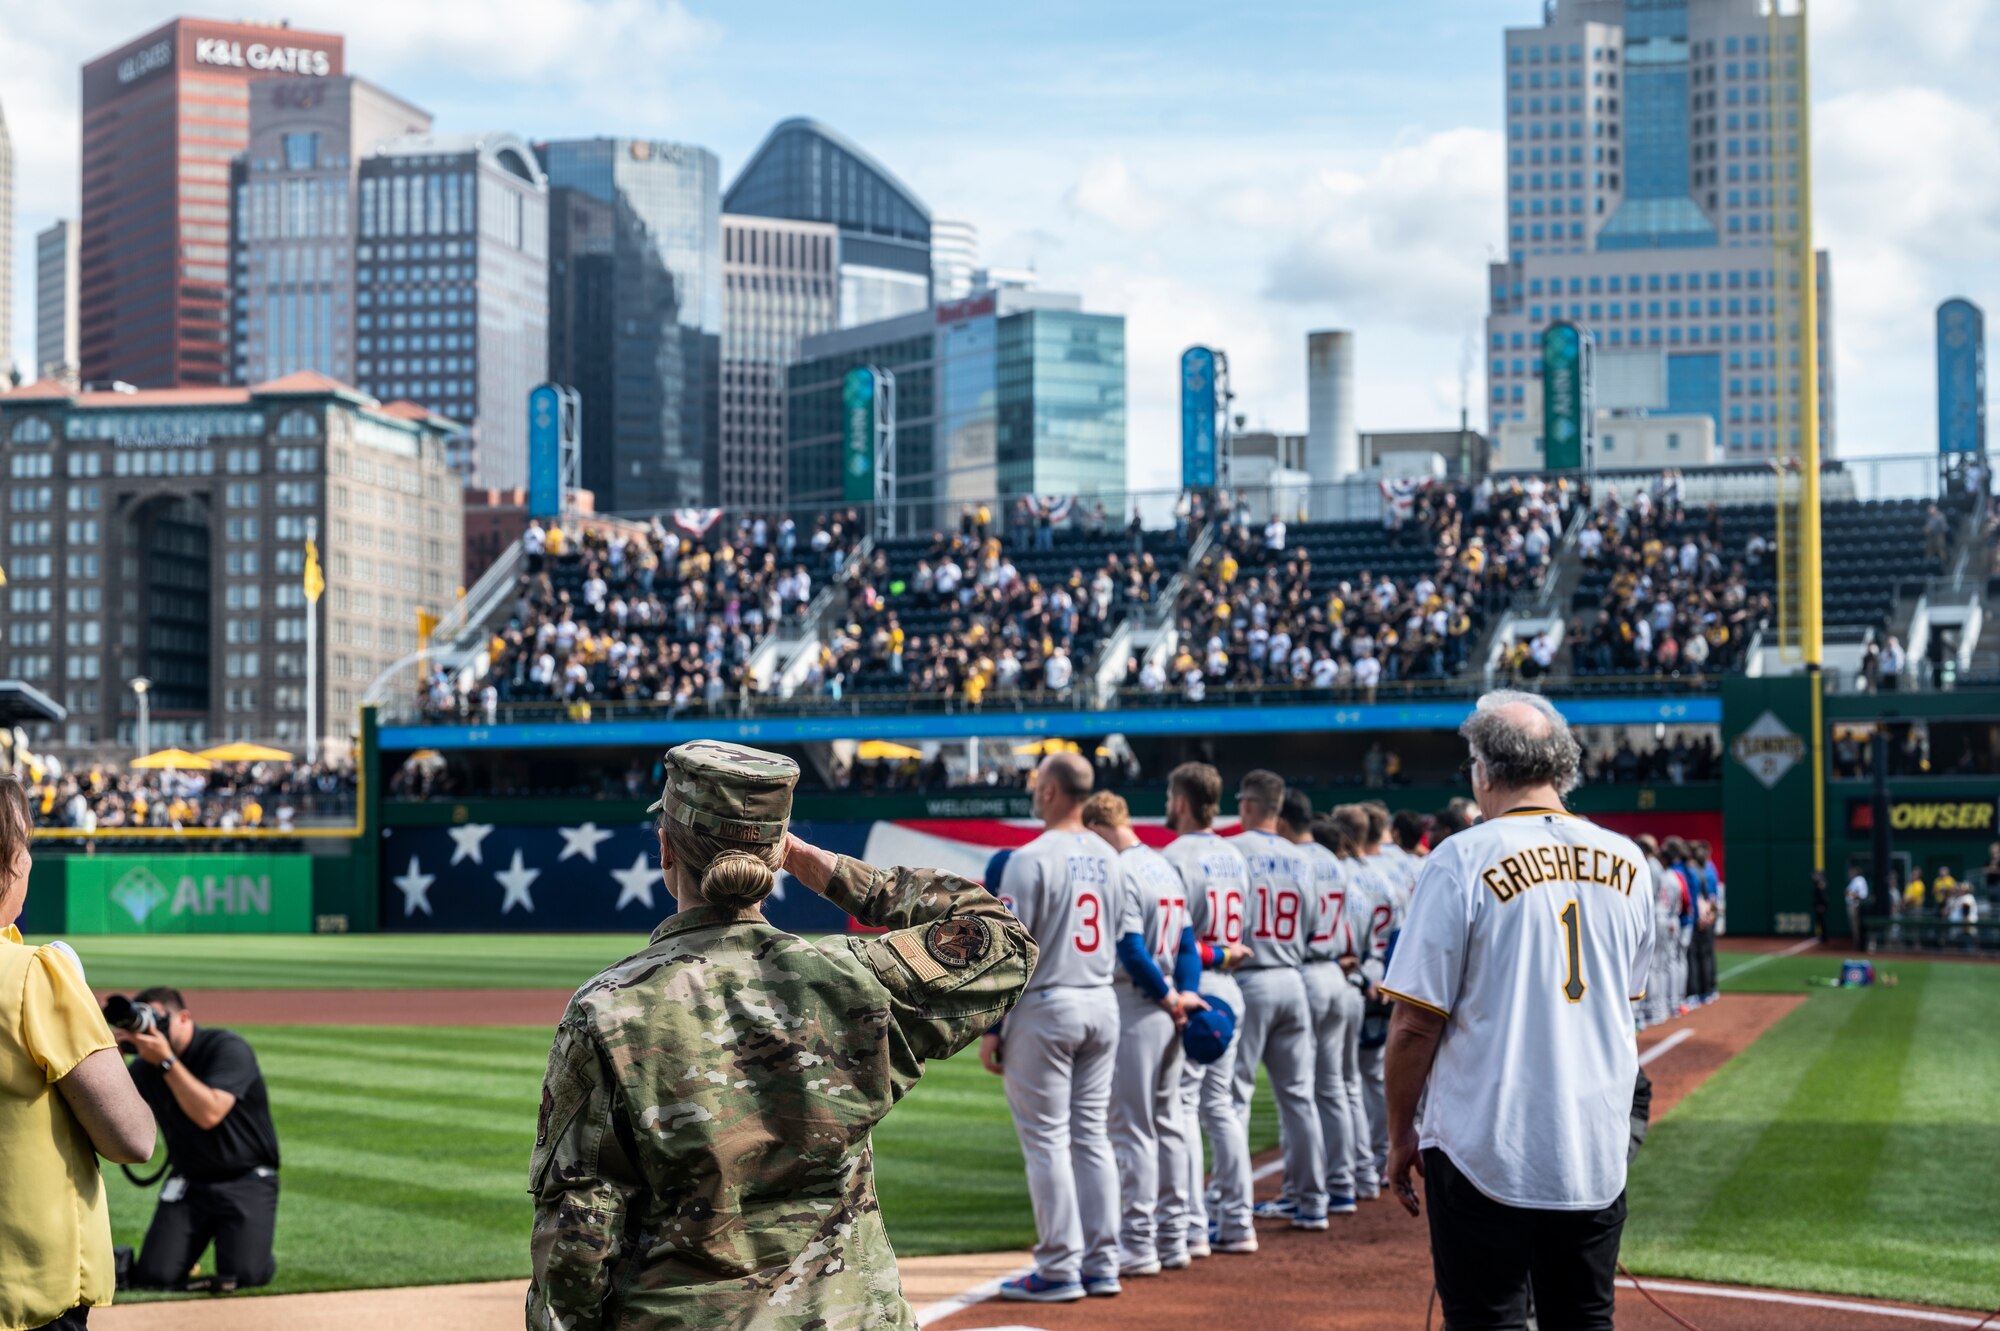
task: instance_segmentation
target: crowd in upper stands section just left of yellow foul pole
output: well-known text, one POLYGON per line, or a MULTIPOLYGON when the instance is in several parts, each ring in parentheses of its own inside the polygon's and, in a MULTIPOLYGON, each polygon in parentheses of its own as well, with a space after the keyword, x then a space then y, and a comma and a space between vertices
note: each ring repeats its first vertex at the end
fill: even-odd
MULTIPOLYGON (((1720 675, 1742 666, 1772 620, 1770 596, 1750 590, 1750 572, 1772 560, 1768 542, 1754 534, 1726 550, 1718 510, 1690 520, 1672 470, 1630 496, 1616 484, 1602 490, 1576 534, 1584 586, 1604 590, 1596 612, 1564 634, 1572 673, 1720 675)), ((1520 644, 1510 667, 1532 679, 1552 662, 1542 636, 1520 644)))

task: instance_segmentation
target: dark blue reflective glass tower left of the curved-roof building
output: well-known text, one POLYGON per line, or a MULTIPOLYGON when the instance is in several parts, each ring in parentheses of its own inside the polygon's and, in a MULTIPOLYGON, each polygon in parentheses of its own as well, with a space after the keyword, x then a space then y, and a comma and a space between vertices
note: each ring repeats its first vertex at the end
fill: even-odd
MULTIPOLYGON (((720 162, 706 148, 642 138, 558 140, 536 144, 536 152, 550 188, 612 210, 610 302, 574 306, 552 342, 558 352, 610 350, 608 398, 584 398, 584 488, 596 492, 600 512, 712 504, 720 472, 720 162), (580 328, 578 318, 604 324, 580 328)), ((574 364, 552 364, 550 376, 590 378, 574 364)))

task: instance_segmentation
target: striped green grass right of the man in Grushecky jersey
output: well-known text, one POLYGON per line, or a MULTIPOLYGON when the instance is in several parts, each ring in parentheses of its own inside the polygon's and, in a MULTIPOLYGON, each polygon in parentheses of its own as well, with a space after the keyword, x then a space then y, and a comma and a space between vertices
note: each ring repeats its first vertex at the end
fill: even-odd
MULTIPOLYGON (((1796 993, 1834 969, 1774 959, 1734 987, 1796 993)), ((2000 1305, 2000 975, 1878 971, 1898 983, 1812 991, 1654 1129, 1632 1269, 2000 1305)))

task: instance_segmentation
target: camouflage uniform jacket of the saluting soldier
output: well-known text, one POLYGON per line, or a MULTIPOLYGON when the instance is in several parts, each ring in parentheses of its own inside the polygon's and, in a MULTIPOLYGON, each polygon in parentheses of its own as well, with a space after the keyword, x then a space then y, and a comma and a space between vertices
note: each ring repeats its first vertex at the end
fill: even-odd
POLYGON ((570 999, 530 1163, 532 1331, 916 1327, 870 1129, 994 1025, 1034 941, 984 887, 840 859, 874 937, 694 907, 570 999))

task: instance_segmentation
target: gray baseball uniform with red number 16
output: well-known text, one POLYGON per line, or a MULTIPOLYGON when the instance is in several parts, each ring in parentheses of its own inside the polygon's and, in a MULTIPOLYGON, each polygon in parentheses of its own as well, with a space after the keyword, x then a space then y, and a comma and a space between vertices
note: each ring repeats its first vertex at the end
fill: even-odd
MULTIPOLYGON (((1234 841, 1218 837, 1214 831, 1190 831, 1174 839, 1162 853, 1180 871, 1180 881, 1188 889, 1188 919, 1194 925, 1194 937, 1210 947, 1244 941, 1250 869, 1234 841)), ((1222 999, 1236 1013, 1236 1019, 1242 1019, 1244 993, 1228 971, 1202 971, 1202 995, 1222 999)), ((1208 1133, 1216 1187, 1222 1189, 1224 1179, 1228 1179, 1228 1187, 1250 1191, 1250 1137, 1242 1119, 1236 1117, 1234 1041, 1220 1059, 1206 1067, 1192 1059, 1182 1061, 1180 1113, 1188 1139, 1188 1173, 1176 1189, 1184 1193, 1184 1197, 1176 1197, 1186 1211, 1182 1241, 1202 1245, 1208 1241, 1208 1197, 1202 1187, 1200 1133, 1208 1133)), ((1162 1235, 1162 1245, 1170 1243, 1172 1235, 1162 1235)))

